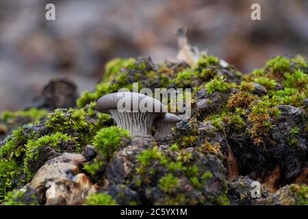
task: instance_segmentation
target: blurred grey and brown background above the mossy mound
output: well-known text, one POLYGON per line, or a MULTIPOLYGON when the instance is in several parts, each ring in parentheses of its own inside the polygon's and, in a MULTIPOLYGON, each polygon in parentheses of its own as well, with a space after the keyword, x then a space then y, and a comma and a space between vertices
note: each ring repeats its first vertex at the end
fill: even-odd
POLYGON ((53 77, 93 90, 114 57, 176 57, 179 27, 243 73, 274 55, 308 55, 307 0, 0 0, 0 110, 23 108, 53 77))

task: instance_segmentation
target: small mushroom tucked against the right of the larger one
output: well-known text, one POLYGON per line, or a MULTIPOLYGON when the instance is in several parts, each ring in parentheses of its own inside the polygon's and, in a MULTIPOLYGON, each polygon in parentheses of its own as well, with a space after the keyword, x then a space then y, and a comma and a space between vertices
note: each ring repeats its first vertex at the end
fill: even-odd
POLYGON ((154 135, 155 140, 162 140, 170 135, 172 127, 179 122, 179 117, 175 114, 167 113, 163 118, 157 118, 154 123, 157 125, 157 131, 154 135))

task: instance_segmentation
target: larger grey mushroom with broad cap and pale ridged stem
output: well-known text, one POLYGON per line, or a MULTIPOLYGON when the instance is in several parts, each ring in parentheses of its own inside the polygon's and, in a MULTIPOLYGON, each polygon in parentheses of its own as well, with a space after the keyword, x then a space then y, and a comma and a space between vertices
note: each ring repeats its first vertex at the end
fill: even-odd
POLYGON ((111 114, 116 125, 130 131, 133 136, 152 136, 155 118, 164 117, 164 105, 150 96, 136 92, 116 92, 97 101, 99 112, 111 114))

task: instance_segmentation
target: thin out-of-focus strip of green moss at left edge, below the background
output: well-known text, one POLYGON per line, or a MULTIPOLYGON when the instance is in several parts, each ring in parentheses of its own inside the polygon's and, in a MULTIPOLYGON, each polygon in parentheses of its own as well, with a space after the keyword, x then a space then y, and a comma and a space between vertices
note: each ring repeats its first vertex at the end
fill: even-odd
POLYGON ((25 117, 29 118, 31 121, 41 120, 44 116, 46 116, 48 112, 46 110, 38 110, 35 107, 30 110, 20 110, 17 112, 10 112, 8 110, 1 112, 0 118, 4 123, 14 123, 16 118, 25 117))

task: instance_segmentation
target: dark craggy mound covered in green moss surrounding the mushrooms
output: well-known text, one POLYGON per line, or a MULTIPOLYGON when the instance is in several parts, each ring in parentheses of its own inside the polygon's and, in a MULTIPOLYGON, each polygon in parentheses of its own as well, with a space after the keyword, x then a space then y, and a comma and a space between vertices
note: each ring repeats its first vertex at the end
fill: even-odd
MULTIPOLYGON (((0 142, 0 200, 6 196, 7 203, 20 203, 22 194, 8 192, 22 188, 40 166, 64 152, 89 155, 84 173, 101 186, 88 198, 90 205, 227 205, 227 177, 237 175, 249 177, 243 190, 253 180, 272 191, 305 183, 307 84, 307 62, 299 55, 275 57, 246 75, 207 55, 194 67, 177 60, 154 64, 147 56, 112 60, 97 88, 81 94, 77 109, 50 114, 34 109, 27 125, 12 127, 0 142), (191 118, 155 142, 132 138, 114 127, 109 115, 94 110, 99 97, 132 90, 134 82, 139 89, 192 88, 191 118)), ((1 117, 6 124, 20 114, 1 117)), ((306 198, 303 192, 296 197, 306 198)), ((237 203, 257 204, 248 195, 237 203)), ((290 202, 296 203, 307 201, 290 202)))

